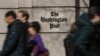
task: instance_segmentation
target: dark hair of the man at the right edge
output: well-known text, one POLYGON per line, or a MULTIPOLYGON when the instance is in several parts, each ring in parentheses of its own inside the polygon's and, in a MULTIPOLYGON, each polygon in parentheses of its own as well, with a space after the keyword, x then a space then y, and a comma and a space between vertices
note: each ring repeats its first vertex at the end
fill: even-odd
POLYGON ((90 19, 93 19, 95 14, 100 16, 100 8, 95 6, 90 7, 88 11, 88 16, 90 17, 90 19))

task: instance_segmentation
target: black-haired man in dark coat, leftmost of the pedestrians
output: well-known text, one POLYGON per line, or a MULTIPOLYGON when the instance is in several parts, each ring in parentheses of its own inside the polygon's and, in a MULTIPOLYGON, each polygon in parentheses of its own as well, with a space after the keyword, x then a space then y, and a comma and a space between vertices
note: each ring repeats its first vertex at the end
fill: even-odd
POLYGON ((8 23, 8 32, 0 56, 23 56, 22 47, 20 46, 23 33, 22 22, 16 20, 14 11, 8 11, 5 18, 6 23, 8 23))

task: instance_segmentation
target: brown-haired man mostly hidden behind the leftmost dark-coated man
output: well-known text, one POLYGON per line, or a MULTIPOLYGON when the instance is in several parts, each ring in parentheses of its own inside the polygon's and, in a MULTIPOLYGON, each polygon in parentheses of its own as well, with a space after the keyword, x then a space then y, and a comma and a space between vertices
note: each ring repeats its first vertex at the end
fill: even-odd
POLYGON ((17 16, 18 16, 18 19, 23 23, 23 38, 22 38, 21 43, 23 44, 22 45, 23 53, 25 56, 27 56, 26 50, 27 50, 27 43, 28 43, 28 38, 29 38, 29 35, 28 35, 29 13, 26 10, 19 10, 17 16))

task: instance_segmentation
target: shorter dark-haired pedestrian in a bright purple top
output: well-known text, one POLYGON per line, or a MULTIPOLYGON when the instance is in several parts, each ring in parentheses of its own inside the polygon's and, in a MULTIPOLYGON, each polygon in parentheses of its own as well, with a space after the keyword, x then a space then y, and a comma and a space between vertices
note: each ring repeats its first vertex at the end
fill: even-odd
MULTIPOLYGON (((33 43, 33 48, 30 49, 33 53, 33 56, 49 56, 48 50, 45 48, 40 35, 40 24, 38 22, 32 22, 28 28, 30 34, 29 42, 33 43)), ((28 48, 29 49, 29 48, 28 48)))

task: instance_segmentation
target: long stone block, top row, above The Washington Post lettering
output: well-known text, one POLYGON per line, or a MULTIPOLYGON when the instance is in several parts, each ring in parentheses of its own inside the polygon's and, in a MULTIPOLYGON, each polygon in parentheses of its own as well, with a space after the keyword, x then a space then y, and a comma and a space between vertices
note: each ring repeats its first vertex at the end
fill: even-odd
POLYGON ((33 0, 33 6, 75 6, 75 0, 33 0))

